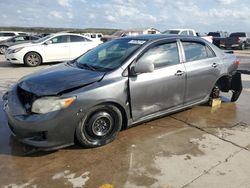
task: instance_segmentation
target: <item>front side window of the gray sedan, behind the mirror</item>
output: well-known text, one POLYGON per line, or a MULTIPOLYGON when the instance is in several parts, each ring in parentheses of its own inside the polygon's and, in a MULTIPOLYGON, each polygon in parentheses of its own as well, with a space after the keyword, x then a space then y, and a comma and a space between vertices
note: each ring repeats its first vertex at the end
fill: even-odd
POLYGON ((179 64, 177 44, 174 42, 152 47, 143 54, 139 61, 152 62, 155 68, 179 64))

